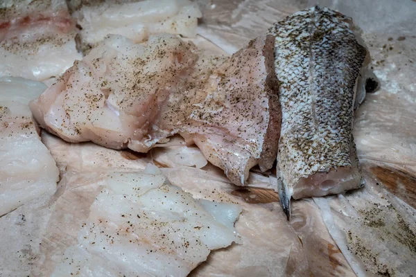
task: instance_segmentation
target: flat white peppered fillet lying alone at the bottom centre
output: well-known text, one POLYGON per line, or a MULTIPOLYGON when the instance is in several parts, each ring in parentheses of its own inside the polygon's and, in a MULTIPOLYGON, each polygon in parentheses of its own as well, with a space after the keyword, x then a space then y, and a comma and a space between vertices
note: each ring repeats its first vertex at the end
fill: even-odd
POLYGON ((187 276, 240 238, 236 204, 193 199, 149 165, 111 173, 51 276, 187 276))

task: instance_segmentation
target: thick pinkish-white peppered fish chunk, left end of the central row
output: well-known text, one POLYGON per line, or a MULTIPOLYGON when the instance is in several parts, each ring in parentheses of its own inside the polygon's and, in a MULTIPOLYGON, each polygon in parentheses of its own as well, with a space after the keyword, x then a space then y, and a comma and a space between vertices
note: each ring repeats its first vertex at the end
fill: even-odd
POLYGON ((173 133, 155 124, 175 83, 198 55, 173 35, 146 45, 107 37, 31 103, 36 120, 65 141, 147 152, 173 133))

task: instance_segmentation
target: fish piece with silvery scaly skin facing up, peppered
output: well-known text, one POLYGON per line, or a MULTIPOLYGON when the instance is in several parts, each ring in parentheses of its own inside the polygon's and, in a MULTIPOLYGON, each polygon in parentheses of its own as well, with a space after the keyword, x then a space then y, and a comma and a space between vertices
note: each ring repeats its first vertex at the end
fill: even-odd
POLYGON ((354 34, 352 19, 318 6, 277 22, 269 33, 276 36, 282 112, 278 189, 290 217, 291 197, 363 186, 352 125, 367 50, 354 34))

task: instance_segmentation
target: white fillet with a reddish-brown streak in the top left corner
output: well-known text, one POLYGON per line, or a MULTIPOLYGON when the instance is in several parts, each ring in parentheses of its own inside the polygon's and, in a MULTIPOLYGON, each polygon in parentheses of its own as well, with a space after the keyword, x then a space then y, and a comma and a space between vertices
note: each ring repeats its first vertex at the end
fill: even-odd
POLYGON ((64 0, 0 3, 0 77, 46 80, 82 57, 64 0))

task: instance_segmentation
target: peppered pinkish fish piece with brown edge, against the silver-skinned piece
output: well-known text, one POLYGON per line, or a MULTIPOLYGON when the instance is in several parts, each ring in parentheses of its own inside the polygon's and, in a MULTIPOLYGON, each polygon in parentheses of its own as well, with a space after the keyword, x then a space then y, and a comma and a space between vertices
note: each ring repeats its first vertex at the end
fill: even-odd
POLYGON ((273 66, 274 37, 253 39, 214 70, 202 102, 193 105, 181 134, 208 161, 243 186, 250 168, 272 168, 281 111, 273 66))

